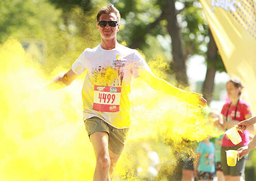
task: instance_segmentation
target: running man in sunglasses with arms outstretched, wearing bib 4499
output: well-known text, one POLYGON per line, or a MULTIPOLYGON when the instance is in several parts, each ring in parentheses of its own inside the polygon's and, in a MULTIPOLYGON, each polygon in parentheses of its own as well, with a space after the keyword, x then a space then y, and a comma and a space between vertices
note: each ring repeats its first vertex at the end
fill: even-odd
POLYGON ((59 87, 70 85, 87 70, 82 88, 83 115, 96 155, 94 180, 100 181, 111 180, 124 148, 130 126, 129 94, 133 78, 142 78, 155 89, 164 87, 163 92, 169 95, 187 102, 197 100, 195 104, 206 106, 206 100, 200 94, 186 92, 157 78, 137 50, 117 42, 120 19, 119 11, 113 5, 102 7, 97 14, 101 44, 85 49, 72 68, 52 82, 59 87))

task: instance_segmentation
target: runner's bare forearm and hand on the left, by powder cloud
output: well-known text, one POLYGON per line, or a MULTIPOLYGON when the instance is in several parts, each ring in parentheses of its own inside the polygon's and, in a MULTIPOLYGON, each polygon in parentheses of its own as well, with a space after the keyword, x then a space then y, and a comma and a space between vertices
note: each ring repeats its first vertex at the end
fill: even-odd
POLYGON ((78 75, 70 69, 65 74, 55 77, 50 83, 46 84, 46 87, 50 89, 63 88, 70 85, 77 77, 78 75))

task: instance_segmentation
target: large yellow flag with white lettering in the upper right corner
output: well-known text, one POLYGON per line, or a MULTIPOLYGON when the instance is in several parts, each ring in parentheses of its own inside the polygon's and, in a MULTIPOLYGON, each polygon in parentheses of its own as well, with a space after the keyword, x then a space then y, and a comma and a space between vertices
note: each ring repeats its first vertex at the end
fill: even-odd
POLYGON ((245 86, 256 113, 256 12, 253 0, 200 0, 222 61, 245 86))

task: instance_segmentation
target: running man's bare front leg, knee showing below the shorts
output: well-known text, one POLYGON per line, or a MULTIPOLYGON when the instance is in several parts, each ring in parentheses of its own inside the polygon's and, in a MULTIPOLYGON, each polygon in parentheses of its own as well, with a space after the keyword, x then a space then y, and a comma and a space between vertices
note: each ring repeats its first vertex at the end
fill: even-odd
POLYGON ((109 134, 107 132, 95 132, 90 135, 96 156, 96 168, 94 181, 110 181, 110 156, 109 156, 109 134))

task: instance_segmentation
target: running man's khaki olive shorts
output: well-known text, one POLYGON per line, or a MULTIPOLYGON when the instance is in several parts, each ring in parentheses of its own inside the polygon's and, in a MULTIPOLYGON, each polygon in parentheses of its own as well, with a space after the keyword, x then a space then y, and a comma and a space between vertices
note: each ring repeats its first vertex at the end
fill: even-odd
POLYGON ((107 132, 109 134, 109 149, 111 152, 118 155, 122 153, 129 128, 114 128, 99 117, 85 119, 84 124, 89 136, 99 131, 107 132))

